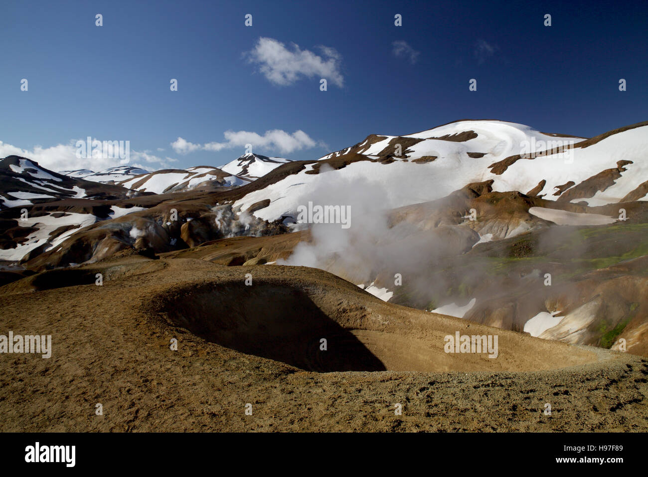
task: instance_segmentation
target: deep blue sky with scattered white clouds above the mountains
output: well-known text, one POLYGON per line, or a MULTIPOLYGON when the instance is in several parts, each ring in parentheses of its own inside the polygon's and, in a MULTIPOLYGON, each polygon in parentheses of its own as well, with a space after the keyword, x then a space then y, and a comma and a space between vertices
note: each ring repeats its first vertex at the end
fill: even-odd
POLYGON ((315 159, 465 118, 594 136, 648 119, 647 25, 645 1, 3 0, 0 153, 78 168, 65 151, 92 136, 151 170, 218 166, 251 137, 315 159))

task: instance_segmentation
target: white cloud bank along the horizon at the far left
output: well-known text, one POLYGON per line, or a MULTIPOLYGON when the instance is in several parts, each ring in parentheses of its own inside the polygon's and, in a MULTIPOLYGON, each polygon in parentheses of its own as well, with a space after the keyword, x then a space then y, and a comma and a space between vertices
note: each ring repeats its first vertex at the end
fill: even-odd
MULTIPOLYGON (((96 139, 96 138, 93 138, 96 139)), ((85 141, 83 138, 82 141, 85 141)), ((0 141, 0 158, 16 155, 26 157, 38 162, 39 165, 50 169, 51 171, 73 171, 76 169, 90 169, 92 171, 102 171, 108 167, 114 167, 121 164, 118 157, 76 157, 77 148, 76 140, 70 140, 67 144, 57 144, 51 147, 34 146, 34 149, 21 149, 20 147, 0 141)), ((145 151, 133 151, 130 149, 130 161, 128 165, 135 167, 144 167, 146 164, 156 164, 157 167, 166 167, 170 162, 176 162, 173 158, 159 158, 145 151)))

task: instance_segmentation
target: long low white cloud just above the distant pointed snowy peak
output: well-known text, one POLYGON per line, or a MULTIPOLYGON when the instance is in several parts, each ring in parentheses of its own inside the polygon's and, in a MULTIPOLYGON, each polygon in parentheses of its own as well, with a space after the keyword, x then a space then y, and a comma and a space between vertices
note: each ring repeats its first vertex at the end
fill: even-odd
POLYGON ((292 134, 281 129, 266 131, 263 136, 257 132, 251 131, 232 131, 224 132, 226 141, 210 142, 205 144, 194 144, 183 138, 178 138, 171 143, 174 151, 178 154, 187 154, 192 151, 202 149, 203 151, 221 151, 222 149, 233 149, 235 147, 245 147, 251 144, 253 148, 268 149, 278 151, 282 154, 290 154, 301 149, 310 149, 311 147, 323 146, 321 141, 315 141, 303 130, 297 130, 292 134))

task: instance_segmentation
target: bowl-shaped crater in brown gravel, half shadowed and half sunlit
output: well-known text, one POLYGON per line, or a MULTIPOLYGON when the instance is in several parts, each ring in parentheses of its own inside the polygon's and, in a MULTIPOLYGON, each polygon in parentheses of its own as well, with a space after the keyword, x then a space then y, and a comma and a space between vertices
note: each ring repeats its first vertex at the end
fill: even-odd
MULTIPOLYGON (((196 261, 161 262, 175 270, 196 261)), ((382 302, 318 269, 212 267, 207 280, 158 287, 150 298, 143 293, 143 310, 207 341, 308 371, 531 371, 597 360, 562 343, 382 302), (457 331, 498 334, 498 359, 446 353, 445 337, 457 331), (320 349, 321 339, 327 350, 320 349)))

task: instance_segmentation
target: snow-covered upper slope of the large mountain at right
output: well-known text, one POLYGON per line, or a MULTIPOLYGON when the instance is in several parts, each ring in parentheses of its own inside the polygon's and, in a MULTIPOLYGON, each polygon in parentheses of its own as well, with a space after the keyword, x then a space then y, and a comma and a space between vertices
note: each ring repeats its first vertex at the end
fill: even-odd
POLYGON ((494 191, 520 191, 550 201, 590 206, 645 201, 647 151, 648 122, 585 139, 505 121, 456 121, 406 136, 372 134, 316 162, 304 162, 301 171, 251 191, 236 205, 245 209, 269 199, 268 206, 255 212, 257 217, 295 216, 314 190, 343 181, 367 182, 394 208, 441 199, 466 184, 488 180, 494 191))

